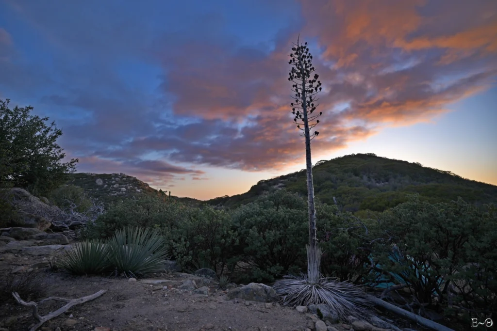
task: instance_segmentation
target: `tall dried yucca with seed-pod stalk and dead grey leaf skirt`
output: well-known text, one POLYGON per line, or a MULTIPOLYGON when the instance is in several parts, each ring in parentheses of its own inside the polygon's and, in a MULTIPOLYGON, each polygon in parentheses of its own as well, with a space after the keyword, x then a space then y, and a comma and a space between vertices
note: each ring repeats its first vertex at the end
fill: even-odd
POLYGON ((286 305, 329 304, 340 318, 347 316, 361 316, 368 318, 366 307, 369 302, 364 298, 360 288, 348 282, 335 282, 329 278, 321 277, 320 264, 322 250, 318 247, 316 209, 314 201, 314 184, 312 178, 311 162, 311 140, 316 138, 319 132, 311 134, 311 130, 318 125, 318 118, 323 114, 313 115, 316 107, 315 95, 322 90, 319 75, 311 74, 315 71, 312 66, 313 56, 309 53, 307 43, 297 44, 292 47, 290 61, 292 66, 288 80, 292 81, 292 91, 295 93, 292 102, 292 114, 295 115, 294 122, 305 137, 306 144, 306 170, 307 170, 307 199, 309 213, 309 245, 307 245, 307 275, 301 277, 285 276, 284 279, 274 283, 273 288, 283 298, 286 305), (314 122, 315 121, 315 122, 314 122), (301 128, 303 126, 303 128, 301 128))

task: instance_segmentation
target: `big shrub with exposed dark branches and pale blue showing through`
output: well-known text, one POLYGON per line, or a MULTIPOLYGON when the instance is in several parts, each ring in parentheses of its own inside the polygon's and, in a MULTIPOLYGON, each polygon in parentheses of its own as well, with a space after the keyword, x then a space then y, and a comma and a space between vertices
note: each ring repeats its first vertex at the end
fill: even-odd
POLYGON ((379 241, 374 254, 381 268, 397 278, 392 280, 408 284, 421 303, 440 310, 454 280, 472 271, 464 271, 465 265, 479 261, 495 268, 488 258, 496 251, 490 249, 485 256, 476 242, 495 236, 495 219, 482 226, 482 216, 480 209, 462 199, 432 204, 412 198, 382 215, 380 227, 390 241, 379 241))

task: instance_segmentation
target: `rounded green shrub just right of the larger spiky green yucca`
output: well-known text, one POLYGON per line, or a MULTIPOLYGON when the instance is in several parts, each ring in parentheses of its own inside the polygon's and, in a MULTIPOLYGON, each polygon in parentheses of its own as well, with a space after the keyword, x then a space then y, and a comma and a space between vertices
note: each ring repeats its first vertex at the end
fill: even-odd
POLYGON ((211 206, 190 208, 174 231, 173 255, 182 267, 208 267, 222 274, 236 263, 234 247, 239 243, 232 219, 211 206))

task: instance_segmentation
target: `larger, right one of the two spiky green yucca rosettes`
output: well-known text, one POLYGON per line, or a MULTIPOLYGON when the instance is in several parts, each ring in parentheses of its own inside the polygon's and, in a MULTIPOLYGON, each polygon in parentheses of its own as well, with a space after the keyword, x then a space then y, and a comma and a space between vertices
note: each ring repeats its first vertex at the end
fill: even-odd
POLYGON ((108 241, 109 261, 126 277, 143 277, 164 270, 166 242, 157 230, 126 227, 108 241))

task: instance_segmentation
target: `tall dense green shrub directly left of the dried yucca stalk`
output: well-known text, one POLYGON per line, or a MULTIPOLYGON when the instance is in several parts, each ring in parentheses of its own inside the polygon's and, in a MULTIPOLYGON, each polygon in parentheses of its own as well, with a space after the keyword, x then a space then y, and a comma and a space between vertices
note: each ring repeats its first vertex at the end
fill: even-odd
POLYGON ((232 216, 240 240, 235 251, 250 265, 246 280, 272 281, 306 265, 309 229, 304 199, 279 190, 233 210, 232 216))

